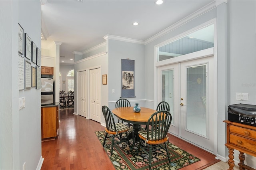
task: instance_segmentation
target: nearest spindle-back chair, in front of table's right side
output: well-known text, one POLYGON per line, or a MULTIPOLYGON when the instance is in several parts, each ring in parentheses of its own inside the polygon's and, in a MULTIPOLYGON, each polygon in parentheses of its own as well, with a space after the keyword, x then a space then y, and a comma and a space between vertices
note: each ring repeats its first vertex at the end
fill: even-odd
POLYGON ((138 145, 137 155, 140 151, 140 148, 146 154, 149 155, 149 170, 151 170, 152 151, 160 150, 161 148, 166 150, 168 160, 171 163, 170 154, 168 152, 168 148, 167 148, 167 144, 166 144, 168 141, 167 132, 171 125, 171 122, 172 122, 172 115, 170 114, 170 112, 157 111, 157 112, 153 113, 153 115, 151 115, 150 118, 148 119, 147 130, 140 130, 138 132, 139 137, 140 137, 140 142, 138 145), (149 127, 150 123, 151 123, 151 126, 150 126, 151 128, 149 127), (155 128, 156 126, 158 128, 155 128), (142 144, 142 141, 145 142, 146 148, 140 147, 142 144), (164 143, 165 147, 160 145, 163 143, 164 143), (152 145, 159 146, 159 147, 152 148, 152 145))

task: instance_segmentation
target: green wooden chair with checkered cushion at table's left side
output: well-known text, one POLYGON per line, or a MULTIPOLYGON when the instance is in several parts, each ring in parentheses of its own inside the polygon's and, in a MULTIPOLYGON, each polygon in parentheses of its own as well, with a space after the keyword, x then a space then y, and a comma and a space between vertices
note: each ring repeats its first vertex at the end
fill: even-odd
POLYGON ((112 138, 110 155, 112 155, 112 153, 113 153, 114 144, 119 144, 119 143, 126 141, 126 142, 128 142, 128 145, 130 146, 130 142, 128 139, 128 133, 127 133, 129 128, 126 125, 124 125, 124 123, 115 123, 112 112, 110 111, 110 109, 107 106, 102 106, 102 113, 103 113, 103 116, 106 121, 106 128, 105 128, 106 136, 104 138, 103 147, 105 145, 106 139, 110 138, 110 137, 112 138), (123 132, 126 133, 126 137, 125 138, 119 137, 119 134, 123 133, 123 132), (118 138, 118 140, 116 140, 116 138, 118 138))

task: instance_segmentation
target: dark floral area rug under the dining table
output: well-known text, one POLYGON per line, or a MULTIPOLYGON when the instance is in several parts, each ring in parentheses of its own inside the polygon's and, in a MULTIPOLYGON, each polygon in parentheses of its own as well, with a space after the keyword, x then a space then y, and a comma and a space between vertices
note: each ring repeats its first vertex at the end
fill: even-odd
MULTIPOLYGON (((103 145, 106 132, 103 130, 96 131, 95 133, 103 145)), ((104 149, 106 150, 106 153, 108 154, 108 157, 112 161, 116 170, 148 170, 148 154, 141 149, 138 156, 136 154, 138 142, 135 144, 132 151, 130 151, 130 147, 128 146, 127 142, 114 144, 113 154, 110 156, 111 142, 112 138, 107 138, 104 149)), ((132 139, 130 140, 130 144, 132 144, 132 139)), ((162 146, 164 146, 164 144, 162 146)), ((171 158, 171 164, 168 161, 166 150, 161 148, 160 150, 152 152, 152 170, 178 170, 184 166, 188 166, 194 162, 200 161, 199 158, 196 158, 192 154, 171 143, 168 143, 167 147, 171 158)))

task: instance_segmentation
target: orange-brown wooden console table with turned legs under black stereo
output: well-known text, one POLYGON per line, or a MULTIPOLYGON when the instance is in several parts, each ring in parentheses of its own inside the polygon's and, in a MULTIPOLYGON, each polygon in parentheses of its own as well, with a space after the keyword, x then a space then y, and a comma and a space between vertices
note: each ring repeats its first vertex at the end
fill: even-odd
POLYGON ((227 123, 227 143, 228 148, 228 165, 229 170, 234 170, 234 149, 240 152, 238 163, 240 170, 256 170, 244 164, 244 153, 256 156, 256 127, 235 123, 231 121, 223 121, 227 123))

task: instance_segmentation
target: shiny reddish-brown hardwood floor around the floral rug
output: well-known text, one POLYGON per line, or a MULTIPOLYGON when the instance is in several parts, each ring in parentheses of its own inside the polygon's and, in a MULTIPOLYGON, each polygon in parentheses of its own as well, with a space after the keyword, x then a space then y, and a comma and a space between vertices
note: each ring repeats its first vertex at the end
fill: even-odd
MULTIPOLYGON (((41 170, 115 170, 95 131, 100 123, 73 114, 74 109, 60 110, 58 137, 42 142, 44 162, 41 170)), ((182 170, 201 170, 220 160, 213 154, 168 134, 169 141, 201 159, 182 170)))

